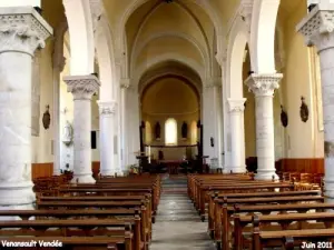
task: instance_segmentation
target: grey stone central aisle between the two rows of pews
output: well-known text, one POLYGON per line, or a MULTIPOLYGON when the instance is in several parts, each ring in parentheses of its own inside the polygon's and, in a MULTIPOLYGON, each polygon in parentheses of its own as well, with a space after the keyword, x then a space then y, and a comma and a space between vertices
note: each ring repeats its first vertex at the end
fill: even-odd
POLYGON ((187 196, 186 177, 165 177, 150 250, 215 250, 187 196))

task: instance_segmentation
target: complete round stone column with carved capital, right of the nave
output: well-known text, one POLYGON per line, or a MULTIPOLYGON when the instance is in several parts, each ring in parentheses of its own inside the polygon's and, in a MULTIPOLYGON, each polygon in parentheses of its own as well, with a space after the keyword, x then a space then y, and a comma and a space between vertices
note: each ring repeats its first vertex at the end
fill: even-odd
POLYGON ((253 73, 246 84, 255 94, 256 116, 256 154, 258 180, 278 180, 275 169, 275 144, 274 144, 274 110, 273 98, 282 73, 256 74, 253 73))

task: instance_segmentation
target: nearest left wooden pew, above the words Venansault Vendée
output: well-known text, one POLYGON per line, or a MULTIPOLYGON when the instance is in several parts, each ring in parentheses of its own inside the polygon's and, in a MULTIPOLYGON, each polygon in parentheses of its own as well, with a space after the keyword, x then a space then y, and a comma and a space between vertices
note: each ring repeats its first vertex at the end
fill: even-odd
POLYGON ((39 240, 40 237, 90 237, 94 241, 99 237, 109 236, 109 242, 117 244, 124 242, 126 250, 140 249, 138 242, 134 242, 135 222, 126 222, 121 220, 14 220, 0 221, 0 236, 6 239, 10 237, 35 237, 39 240), (76 228, 76 229, 73 229, 76 228), (97 229, 96 229, 97 228, 97 229), (48 230, 52 229, 52 230, 48 230), (117 238, 114 241, 112 238, 117 238))

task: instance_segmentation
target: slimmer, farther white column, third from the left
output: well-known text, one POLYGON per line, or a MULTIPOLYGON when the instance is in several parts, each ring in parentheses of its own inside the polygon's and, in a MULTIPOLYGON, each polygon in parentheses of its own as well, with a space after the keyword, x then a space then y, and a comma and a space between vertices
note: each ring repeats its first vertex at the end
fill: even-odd
POLYGON ((98 101, 100 110, 100 173, 115 176, 114 168, 114 116, 115 101, 98 101))

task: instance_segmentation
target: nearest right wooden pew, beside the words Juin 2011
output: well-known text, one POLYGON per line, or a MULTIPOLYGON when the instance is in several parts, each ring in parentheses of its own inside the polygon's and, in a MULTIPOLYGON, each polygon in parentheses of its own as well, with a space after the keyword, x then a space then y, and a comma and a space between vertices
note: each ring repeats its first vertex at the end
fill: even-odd
MULTIPOLYGON (((288 214, 271 214, 271 216, 239 216, 234 218, 234 249, 243 250, 252 246, 245 244, 243 239, 243 230, 247 227, 247 231, 254 231, 256 238, 256 246, 258 246, 259 228, 262 231, 282 231, 282 230, 296 230, 296 229, 326 229, 332 228, 334 223, 334 213, 331 212, 316 212, 316 213, 288 213, 288 214), (316 221, 316 222, 308 222, 316 221), (253 222, 253 224, 252 224, 253 222), (297 222, 297 223, 294 223, 297 222), (277 224, 273 224, 277 223, 277 224), (293 224, 294 223, 294 224, 293 224), (250 224, 250 227, 249 227, 250 224)), ((296 230, 297 231, 297 230, 296 230)), ((282 233, 279 233, 282 236, 282 233)), ((284 233, 283 233, 284 234, 284 233)), ((333 236, 334 237, 334 236, 333 236)), ((281 247, 281 246, 276 246, 281 247)))

